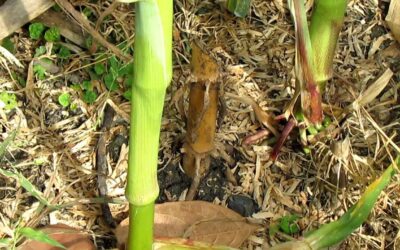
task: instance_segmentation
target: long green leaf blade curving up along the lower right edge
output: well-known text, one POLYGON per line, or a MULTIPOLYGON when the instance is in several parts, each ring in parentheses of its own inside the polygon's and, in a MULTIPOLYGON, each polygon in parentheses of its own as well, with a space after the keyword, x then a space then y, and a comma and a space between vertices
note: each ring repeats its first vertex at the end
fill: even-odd
POLYGON ((385 172, 371 183, 360 200, 353 205, 339 220, 323 225, 321 228, 308 233, 303 240, 286 242, 271 248, 271 250, 317 250, 325 249, 345 240, 354 230, 368 219, 380 193, 385 189, 400 166, 400 156, 394 164, 390 165, 385 172))

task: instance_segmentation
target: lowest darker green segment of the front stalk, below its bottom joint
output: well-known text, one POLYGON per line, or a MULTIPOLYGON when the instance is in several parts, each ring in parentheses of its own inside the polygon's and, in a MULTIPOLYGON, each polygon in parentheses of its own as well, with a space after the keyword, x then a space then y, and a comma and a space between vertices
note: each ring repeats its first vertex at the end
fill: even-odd
POLYGON ((127 249, 150 250, 153 245, 154 203, 129 205, 129 236, 127 249), (151 223, 150 223, 151 222, 151 223))

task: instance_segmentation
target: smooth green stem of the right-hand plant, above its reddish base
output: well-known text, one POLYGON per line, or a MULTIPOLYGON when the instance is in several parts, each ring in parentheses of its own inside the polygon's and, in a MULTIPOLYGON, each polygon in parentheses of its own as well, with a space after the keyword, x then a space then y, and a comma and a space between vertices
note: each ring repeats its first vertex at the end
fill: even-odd
POLYGON ((309 27, 315 80, 321 93, 332 77, 335 48, 343 26, 347 0, 316 0, 309 27))

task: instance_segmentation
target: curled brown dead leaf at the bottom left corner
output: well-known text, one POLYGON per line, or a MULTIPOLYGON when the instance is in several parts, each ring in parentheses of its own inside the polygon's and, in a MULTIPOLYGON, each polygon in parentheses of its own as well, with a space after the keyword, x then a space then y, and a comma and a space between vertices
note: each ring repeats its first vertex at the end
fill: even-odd
MULTIPOLYGON (((75 228, 57 224, 50 225, 40 229, 47 233, 52 239, 64 245, 68 250, 94 250, 96 249, 93 242, 86 233, 83 233, 75 228)), ((27 240, 18 250, 57 250, 58 247, 48 245, 43 242, 27 240)))

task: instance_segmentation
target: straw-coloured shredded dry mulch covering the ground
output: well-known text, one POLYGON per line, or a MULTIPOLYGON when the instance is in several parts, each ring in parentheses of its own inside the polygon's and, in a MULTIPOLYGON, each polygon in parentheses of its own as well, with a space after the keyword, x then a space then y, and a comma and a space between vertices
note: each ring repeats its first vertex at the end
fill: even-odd
MULTIPOLYGON (((88 7, 100 16, 110 2, 75 4, 82 9, 88 7)), ((104 37, 114 35, 117 43, 132 41, 131 8, 121 5, 114 11, 98 26, 99 31, 104 37)), ((224 192, 214 202, 226 204, 231 194, 242 194, 253 198, 260 208, 252 220, 262 224, 264 230, 257 231, 243 247, 255 249, 265 243, 272 245, 284 240, 281 234, 269 235, 265 228, 285 215, 299 215, 300 230, 309 231, 343 214, 366 185, 380 175, 395 154, 394 145, 399 144, 400 52, 383 20, 384 11, 375 3, 349 2, 335 57, 334 84, 328 84, 324 96, 326 110, 332 114, 340 114, 354 100, 359 104, 366 102, 361 105, 364 107, 348 112, 340 120, 340 127, 331 132, 333 139, 317 142, 311 155, 302 152, 296 135, 292 135, 278 160, 272 163, 268 156, 273 143, 268 136, 264 141, 241 145, 247 136, 265 127, 256 119, 251 105, 232 97, 251 97, 268 113, 279 115, 284 111, 294 93, 294 32, 286 3, 253 1, 251 15, 237 19, 214 2, 176 1, 174 81, 163 117, 160 175, 168 168, 173 169, 169 170, 172 177, 181 171, 186 126, 179 105, 187 107, 188 103, 184 98, 180 104, 182 101, 177 95, 188 95, 182 89, 191 81, 190 45, 196 41, 218 60, 222 72, 220 92, 224 102, 221 106, 225 108, 223 112, 220 109, 222 118, 215 137, 217 153, 213 155, 221 159, 212 161, 216 168, 230 168, 238 182, 238 185, 224 185, 224 192), (388 68, 394 75, 386 83, 377 82, 378 87, 385 84, 386 87, 375 98, 368 98, 371 92, 367 91, 368 87, 388 68), (345 189, 337 188, 336 176, 343 176, 339 182, 345 182, 345 189)), ((23 173, 43 192, 48 202, 71 206, 38 212, 40 205, 18 182, 2 178, 1 186, 6 188, 0 193, 4 211, 1 214, 4 230, 1 231, 10 232, 22 216, 28 226, 65 223, 92 232, 99 246, 112 245, 113 236, 102 221, 100 206, 93 205, 93 198, 97 197, 94 153, 100 136, 96 126, 104 104, 108 103, 118 116, 110 134, 114 138, 116 135, 124 137, 129 103, 121 97, 122 91, 107 92, 101 82, 94 83, 99 92, 94 104, 79 101, 79 94, 71 90, 68 83, 87 77, 85 65, 88 62, 85 60, 93 60, 87 54, 75 55, 69 65, 60 67, 62 73, 58 77, 49 75, 49 80, 37 81, 32 72, 33 64, 28 66, 35 44, 23 30, 13 39, 18 44, 16 57, 25 65, 25 69, 18 72, 27 79, 27 84, 26 88, 20 88, 8 79, 6 71, 2 74, 2 90, 15 91, 20 102, 19 108, 11 113, 0 111, 3 137, 19 126, 16 143, 6 156, 8 165, 13 164, 23 173), (66 111, 57 103, 57 97, 64 91, 76 96, 78 112, 66 111), (35 165, 38 162, 41 164, 35 165)), ((282 129, 279 125, 276 127, 282 129)), ((115 146, 115 159, 109 160, 107 187, 108 195, 113 198, 122 198, 125 186, 127 150, 126 145, 120 147, 115 146)), ((206 182, 211 180, 206 179, 206 182)), ((396 182, 398 176, 381 196, 370 220, 340 248, 392 249, 400 244, 396 240, 400 224, 396 182)), ((182 192, 188 184, 178 185, 178 189, 172 186, 161 190, 165 200, 184 199, 182 192)), ((126 216, 126 205, 110 206, 117 220, 126 216)))

